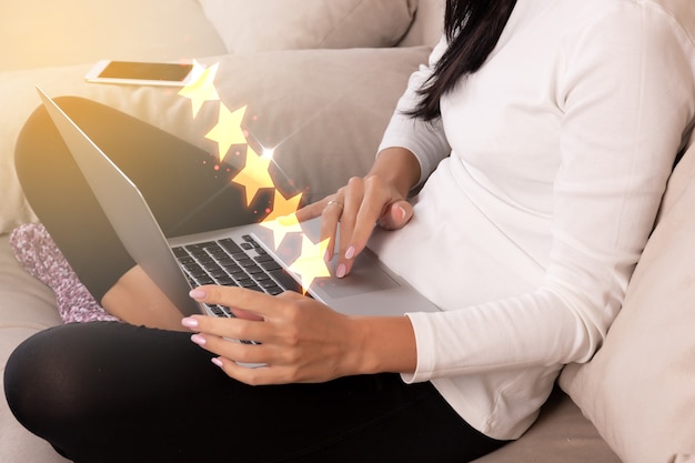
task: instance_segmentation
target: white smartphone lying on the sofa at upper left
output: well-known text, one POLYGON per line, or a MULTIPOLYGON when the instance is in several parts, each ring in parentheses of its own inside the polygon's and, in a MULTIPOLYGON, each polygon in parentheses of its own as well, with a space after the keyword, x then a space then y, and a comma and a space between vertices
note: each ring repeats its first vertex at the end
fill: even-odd
POLYGON ((199 77, 192 63, 102 60, 84 76, 88 82, 185 87, 199 77))

